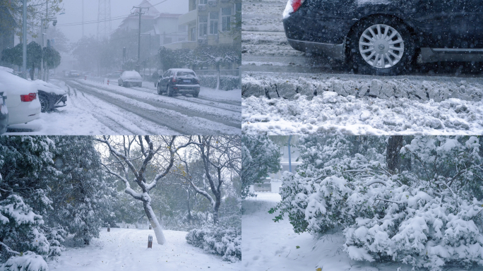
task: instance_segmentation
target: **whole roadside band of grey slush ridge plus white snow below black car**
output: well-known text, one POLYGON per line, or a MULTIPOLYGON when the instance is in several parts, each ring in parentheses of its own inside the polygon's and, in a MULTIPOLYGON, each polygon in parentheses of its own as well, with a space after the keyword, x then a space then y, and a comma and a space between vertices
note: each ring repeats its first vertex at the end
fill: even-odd
POLYGON ((483 133, 479 78, 247 73, 242 87, 242 133, 483 133))

